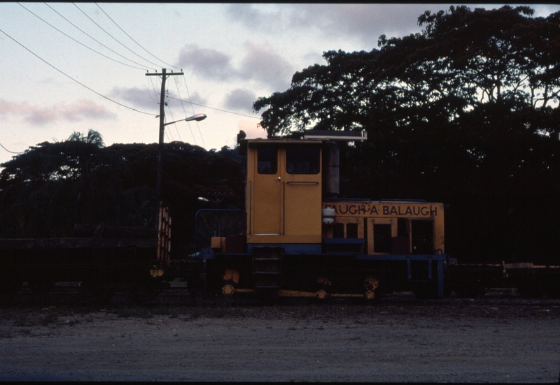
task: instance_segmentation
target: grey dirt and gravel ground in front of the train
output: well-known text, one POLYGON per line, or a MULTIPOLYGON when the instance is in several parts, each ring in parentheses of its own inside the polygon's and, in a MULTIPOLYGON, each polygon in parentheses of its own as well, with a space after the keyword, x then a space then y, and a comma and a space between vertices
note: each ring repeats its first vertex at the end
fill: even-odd
POLYGON ((0 310, 0 380, 559 382, 560 300, 0 310))

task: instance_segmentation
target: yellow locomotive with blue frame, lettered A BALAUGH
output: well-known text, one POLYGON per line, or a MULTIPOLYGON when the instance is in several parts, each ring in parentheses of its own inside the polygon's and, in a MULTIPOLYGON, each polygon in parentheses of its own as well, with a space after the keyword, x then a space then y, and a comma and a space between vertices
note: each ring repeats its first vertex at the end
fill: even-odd
POLYGON ((366 139, 346 131, 241 136, 246 233, 211 239, 202 253, 208 289, 369 300, 412 290, 441 298, 442 203, 337 198, 338 143, 366 139))

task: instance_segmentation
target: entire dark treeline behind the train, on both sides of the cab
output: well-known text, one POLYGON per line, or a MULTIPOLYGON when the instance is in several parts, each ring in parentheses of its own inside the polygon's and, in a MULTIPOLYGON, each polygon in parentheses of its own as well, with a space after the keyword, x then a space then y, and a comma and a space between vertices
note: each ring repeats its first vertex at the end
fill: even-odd
MULTIPOLYGON (((460 261, 560 265, 560 13, 532 15, 525 6, 426 12, 421 33, 325 52, 326 64, 253 107, 269 137, 366 130, 367 143, 341 149, 342 195, 449 204, 446 252, 460 261)), ((244 208, 238 158, 166 145, 174 242, 192 244, 200 208, 244 208)), ((31 147, 1 165, 0 237, 154 226, 157 159, 155 144, 104 147, 95 131, 31 147)))

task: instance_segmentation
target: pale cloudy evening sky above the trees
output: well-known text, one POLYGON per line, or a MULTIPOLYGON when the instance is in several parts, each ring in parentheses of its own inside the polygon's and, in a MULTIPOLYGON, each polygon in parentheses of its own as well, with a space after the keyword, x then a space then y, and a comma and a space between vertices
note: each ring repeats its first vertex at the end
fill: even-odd
MULTIPOLYGON (((457 5, 457 4, 456 4, 457 5)), ((499 8, 503 4, 476 4, 499 8)), ((157 143, 160 76, 165 142, 233 147, 265 137, 253 111, 323 52, 370 51, 382 34, 421 31, 438 3, 0 3, 0 163, 30 146, 94 129, 106 145, 157 143)), ((535 16, 560 10, 531 4, 535 16)))

